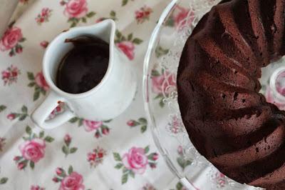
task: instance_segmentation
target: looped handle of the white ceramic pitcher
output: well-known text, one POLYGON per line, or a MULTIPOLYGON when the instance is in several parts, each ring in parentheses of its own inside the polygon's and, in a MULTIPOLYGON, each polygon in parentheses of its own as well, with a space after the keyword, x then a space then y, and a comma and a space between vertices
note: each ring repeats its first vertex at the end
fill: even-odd
POLYGON ((33 111, 33 114, 31 114, 31 119, 43 129, 54 129, 56 126, 64 124, 66 121, 74 117, 73 112, 71 112, 69 109, 64 110, 63 113, 56 115, 53 119, 49 119, 48 121, 46 121, 46 119, 51 114, 53 109, 56 109, 58 102, 65 101, 66 99, 63 99, 55 92, 50 91, 43 103, 38 106, 35 111, 33 111))

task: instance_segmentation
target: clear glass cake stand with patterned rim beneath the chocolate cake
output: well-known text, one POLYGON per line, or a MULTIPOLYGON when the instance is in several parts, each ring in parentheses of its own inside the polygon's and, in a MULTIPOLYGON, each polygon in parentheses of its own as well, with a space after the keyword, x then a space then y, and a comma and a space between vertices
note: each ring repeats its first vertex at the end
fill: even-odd
MULTIPOLYGON (((219 0, 173 0, 162 12, 145 55, 145 111, 160 154, 187 189, 197 190, 196 183, 203 184, 201 189, 260 189, 229 179, 197 152, 177 104, 176 75, 183 46, 199 19, 217 3, 219 0)), ((279 109, 285 109, 280 87, 285 86, 283 62, 280 59, 263 68, 260 79, 260 92, 279 109)))

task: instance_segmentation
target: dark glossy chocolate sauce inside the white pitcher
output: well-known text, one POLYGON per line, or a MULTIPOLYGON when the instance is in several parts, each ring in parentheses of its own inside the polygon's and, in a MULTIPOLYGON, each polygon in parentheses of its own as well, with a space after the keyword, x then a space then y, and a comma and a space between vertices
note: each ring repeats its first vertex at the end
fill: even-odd
POLYGON ((71 94, 93 89, 108 69, 109 44, 95 36, 78 36, 65 42, 74 47, 58 66, 56 85, 71 94))

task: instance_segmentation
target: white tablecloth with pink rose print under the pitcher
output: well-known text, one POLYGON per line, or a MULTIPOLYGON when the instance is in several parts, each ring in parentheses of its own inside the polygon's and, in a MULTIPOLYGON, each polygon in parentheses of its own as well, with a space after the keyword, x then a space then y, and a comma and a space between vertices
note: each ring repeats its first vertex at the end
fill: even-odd
MULTIPOLYGON (((142 100, 147 43, 169 2, 20 1, 0 41, 0 189, 184 189, 152 141, 142 100), (65 29, 107 18, 115 20, 115 44, 137 71, 138 91, 133 103, 109 121, 75 117, 63 126, 43 131, 30 115, 49 90, 41 72, 48 43, 65 29)), ((187 14, 187 9, 181 8, 171 24, 175 26, 187 14)), ((152 80, 156 86, 153 91, 160 94, 165 79, 158 75, 152 80)), ((61 111, 59 105, 50 117, 61 111)), ((180 154, 180 166, 190 165, 180 154)), ((214 180, 223 186, 222 174, 215 173, 214 180)), ((195 189, 203 184, 197 181, 193 182, 195 189)))

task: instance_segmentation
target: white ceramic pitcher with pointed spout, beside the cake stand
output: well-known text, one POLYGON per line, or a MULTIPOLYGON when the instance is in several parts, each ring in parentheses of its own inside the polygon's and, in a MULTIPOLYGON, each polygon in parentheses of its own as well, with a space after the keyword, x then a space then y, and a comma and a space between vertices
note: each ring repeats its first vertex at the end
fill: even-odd
POLYGON ((128 59, 115 46, 114 37, 115 22, 107 19, 93 26, 81 26, 65 31, 48 45, 43 56, 43 75, 51 91, 31 115, 38 126, 53 129, 74 116, 95 121, 113 119, 129 106, 135 94, 136 77, 128 59), (97 36, 110 44, 108 69, 100 84, 93 89, 81 94, 69 94, 56 86, 58 64, 73 48, 72 43, 64 41, 84 35, 97 36), (47 120, 59 102, 64 102, 66 109, 53 119, 47 120))

